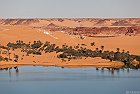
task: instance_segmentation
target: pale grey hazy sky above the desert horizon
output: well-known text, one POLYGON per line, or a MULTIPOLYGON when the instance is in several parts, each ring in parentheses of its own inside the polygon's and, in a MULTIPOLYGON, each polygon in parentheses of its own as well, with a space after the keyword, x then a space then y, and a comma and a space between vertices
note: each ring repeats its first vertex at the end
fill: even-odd
POLYGON ((0 18, 140 17, 140 0, 0 0, 0 18))

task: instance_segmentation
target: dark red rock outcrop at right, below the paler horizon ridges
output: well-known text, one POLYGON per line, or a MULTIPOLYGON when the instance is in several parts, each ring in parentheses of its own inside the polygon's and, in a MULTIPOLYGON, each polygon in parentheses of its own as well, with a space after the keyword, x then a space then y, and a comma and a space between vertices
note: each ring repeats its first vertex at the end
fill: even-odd
POLYGON ((72 35, 96 35, 96 34, 106 34, 106 35, 137 35, 140 34, 140 27, 76 27, 76 28, 46 28, 52 31, 65 31, 72 35))

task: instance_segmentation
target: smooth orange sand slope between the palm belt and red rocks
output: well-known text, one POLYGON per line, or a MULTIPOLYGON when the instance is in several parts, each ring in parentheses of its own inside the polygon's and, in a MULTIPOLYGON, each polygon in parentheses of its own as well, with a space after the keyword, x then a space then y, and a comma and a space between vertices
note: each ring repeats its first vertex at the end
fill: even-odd
POLYGON ((44 34, 44 30, 36 29, 30 26, 1 26, 3 30, 0 31, 0 43, 6 45, 8 42, 15 42, 16 40, 23 40, 25 42, 33 42, 34 40, 41 40, 42 42, 49 41, 56 45, 76 46, 77 44, 86 44, 87 48, 100 48, 105 46, 105 50, 116 51, 116 48, 130 51, 131 54, 140 55, 140 36, 118 36, 109 38, 86 37, 84 40, 67 35, 64 32, 47 31, 49 34, 44 34), (95 46, 90 46, 91 42, 95 42, 95 46))

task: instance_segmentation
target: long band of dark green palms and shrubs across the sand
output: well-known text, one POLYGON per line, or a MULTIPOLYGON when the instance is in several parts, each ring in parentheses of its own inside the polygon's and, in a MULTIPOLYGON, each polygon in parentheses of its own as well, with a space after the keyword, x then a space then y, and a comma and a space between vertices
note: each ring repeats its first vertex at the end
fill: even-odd
MULTIPOLYGON (((94 46, 95 42, 91 43, 91 46, 94 46)), ((56 52, 58 54, 58 58, 64 60, 68 59, 70 61, 71 59, 80 59, 82 57, 101 57, 102 59, 107 59, 110 61, 121 61, 124 62, 125 67, 132 67, 132 62, 134 60, 140 62, 140 56, 137 55, 131 55, 129 54, 129 51, 122 50, 120 52, 120 48, 116 48, 116 52, 113 51, 104 51, 104 46, 102 45, 99 48, 96 48, 95 50, 87 49, 84 47, 80 47, 78 44, 77 46, 68 46, 67 44, 62 45, 62 47, 56 46, 56 44, 51 44, 50 42, 46 41, 45 43, 42 43, 41 41, 34 41, 33 43, 25 43, 21 40, 16 41, 15 43, 8 43, 7 46, 0 46, 0 54, 1 49, 7 50, 8 57, 2 57, 0 56, 0 61, 9 61, 11 60, 10 57, 10 50, 15 49, 21 49, 21 52, 26 52, 26 56, 29 56, 30 54, 34 55, 42 55, 42 52, 44 53, 51 53, 56 52)), ((14 61, 18 62, 18 55, 14 55, 14 61)), ((133 66, 134 67, 134 66, 133 66)))

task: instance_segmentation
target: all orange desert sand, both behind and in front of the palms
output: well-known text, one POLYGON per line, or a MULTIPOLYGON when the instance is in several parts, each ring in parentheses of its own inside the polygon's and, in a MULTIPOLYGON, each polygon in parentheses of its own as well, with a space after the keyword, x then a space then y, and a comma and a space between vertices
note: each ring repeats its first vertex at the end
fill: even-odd
MULTIPOLYGON (((9 42, 15 42, 17 40, 22 40, 26 43, 33 42, 40 40, 42 42, 49 41, 51 43, 54 43, 58 46, 62 46, 63 44, 67 44, 69 46, 76 46, 77 44, 85 44, 86 46, 82 46, 88 49, 95 50, 96 48, 99 48, 103 45, 104 50, 109 51, 116 51, 116 48, 120 48, 120 50, 129 51, 130 54, 133 55, 140 55, 140 35, 138 34, 132 34, 132 36, 126 36, 124 34, 119 34, 119 36, 115 37, 88 37, 85 36, 85 39, 79 38, 80 35, 69 35, 65 31, 54 31, 49 29, 46 29, 47 25, 50 23, 55 24, 59 27, 112 27, 112 23, 115 23, 115 21, 119 22, 120 19, 116 20, 105 20, 101 21, 100 23, 98 20, 89 20, 89 19, 83 19, 80 20, 68 20, 68 19, 49 19, 43 20, 43 19, 36 19, 33 21, 27 20, 24 24, 20 23, 18 24, 18 20, 13 21, 3 21, 1 20, 0 24, 0 44, 5 45, 9 42), (77 23, 77 21, 79 21, 77 23), (15 24, 16 23, 16 24, 15 24), (80 23, 80 24, 79 24, 80 23), (92 23, 92 24, 91 24, 92 23), (13 25, 14 24, 14 25, 13 25), (90 43, 95 42, 95 46, 91 46, 90 43)), ((102 19, 103 20, 103 19, 102 19)), ((129 22, 129 25, 135 24, 137 27, 140 25, 140 19, 125 19, 129 22), (131 22, 131 24, 130 24, 131 22)), ((120 22, 123 27, 129 27, 129 25, 124 26, 122 22, 120 22)), ((114 26, 115 27, 115 26, 114 26)), ((120 27, 120 26, 116 26, 120 27)), ((56 27, 51 27, 56 28, 56 27)), ((113 31, 112 31, 113 32, 113 31)), ((116 31, 114 31, 116 32, 116 31)), ((123 31, 122 31, 123 32, 123 31)), ((139 31, 137 31, 139 32, 139 31)), ((114 33, 110 34, 113 35, 114 33)), ((105 35, 104 33, 98 34, 98 35, 105 35)), ((57 58, 57 54, 55 52, 52 53, 43 53, 42 55, 30 55, 28 57, 24 57, 23 60, 21 60, 22 55, 25 55, 24 52, 20 52, 19 49, 16 49, 15 51, 10 51, 11 57, 13 57, 13 54, 19 55, 18 62, 6 62, 6 61, 0 61, 0 68, 9 68, 9 67, 15 67, 15 66, 59 66, 59 67, 105 67, 105 68, 120 68, 124 64, 122 62, 113 61, 110 62, 109 60, 101 59, 99 57, 97 58, 82 58, 82 59, 76 59, 71 61, 65 61, 63 62, 61 59, 57 58)), ((4 55, 2 55, 4 56, 4 55)))

